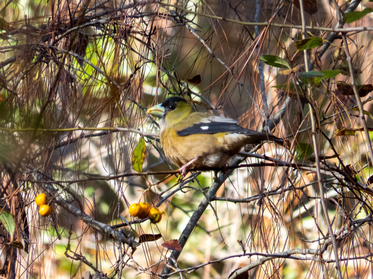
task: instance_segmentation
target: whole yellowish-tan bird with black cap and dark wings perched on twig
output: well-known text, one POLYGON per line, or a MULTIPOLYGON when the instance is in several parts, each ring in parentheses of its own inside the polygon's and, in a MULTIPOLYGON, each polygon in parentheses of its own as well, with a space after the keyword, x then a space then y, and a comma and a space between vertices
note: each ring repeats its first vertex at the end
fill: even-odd
POLYGON ((234 119, 197 112, 182 97, 169 97, 148 108, 147 113, 160 118, 161 147, 166 157, 179 166, 182 176, 187 168, 224 169, 247 144, 283 143, 267 132, 241 127, 234 119))

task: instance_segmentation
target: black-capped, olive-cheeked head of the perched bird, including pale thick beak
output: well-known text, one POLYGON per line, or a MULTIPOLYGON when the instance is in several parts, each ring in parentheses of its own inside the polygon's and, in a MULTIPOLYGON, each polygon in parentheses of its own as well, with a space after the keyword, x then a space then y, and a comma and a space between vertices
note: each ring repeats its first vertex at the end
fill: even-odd
POLYGON ((163 103, 148 108, 148 114, 161 118, 167 125, 178 123, 194 111, 193 106, 181 97, 171 97, 163 103))

